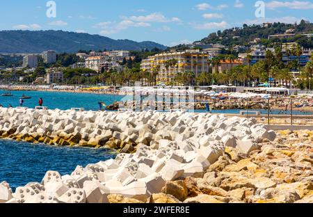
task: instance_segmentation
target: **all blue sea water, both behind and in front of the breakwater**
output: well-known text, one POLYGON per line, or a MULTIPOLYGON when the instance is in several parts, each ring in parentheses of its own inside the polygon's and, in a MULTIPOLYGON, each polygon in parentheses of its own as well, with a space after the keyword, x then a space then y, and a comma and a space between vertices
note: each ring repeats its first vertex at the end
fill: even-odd
MULTIPOLYGON (((31 99, 24 99, 24 105, 28 108, 38 106, 40 97, 43 106, 49 109, 71 109, 84 108, 86 111, 97 111, 98 102, 106 105, 113 102, 131 99, 131 96, 122 95, 97 95, 90 93, 62 93, 42 91, 12 91, 13 97, 2 97, 5 93, 0 90, 0 104, 7 107, 19 106, 19 98, 27 95, 31 99)), ((205 110, 193 112, 203 113, 205 110)), ((238 114, 240 110, 214 110, 213 113, 238 114)), ((267 111, 261 111, 266 113, 267 111)), ((280 111, 273 111, 280 113, 280 111)), ((82 147, 56 147, 48 145, 33 145, 29 143, 16 142, 13 140, 0 140, 0 182, 6 181, 13 190, 17 186, 24 186, 29 182, 41 182, 47 170, 56 170, 61 175, 70 174, 77 165, 86 166, 88 163, 97 163, 115 158, 116 153, 111 150, 82 147)))

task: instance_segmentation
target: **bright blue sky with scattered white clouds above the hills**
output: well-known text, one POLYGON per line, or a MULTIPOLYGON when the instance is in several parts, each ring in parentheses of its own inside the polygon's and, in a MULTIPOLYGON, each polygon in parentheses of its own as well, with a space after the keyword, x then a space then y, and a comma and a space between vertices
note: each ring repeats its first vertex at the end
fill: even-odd
POLYGON ((174 46, 218 30, 313 20, 313 0, 1 0, 0 30, 63 30, 174 46))

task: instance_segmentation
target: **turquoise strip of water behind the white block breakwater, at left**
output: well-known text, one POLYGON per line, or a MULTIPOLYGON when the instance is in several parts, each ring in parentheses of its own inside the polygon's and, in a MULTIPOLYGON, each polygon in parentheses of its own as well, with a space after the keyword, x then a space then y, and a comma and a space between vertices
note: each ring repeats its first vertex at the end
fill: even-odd
MULTIPOLYGON (((23 94, 32 97, 24 99, 23 106, 34 109, 38 106, 40 97, 43 99, 43 106, 49 109, 71 109, 84 108, 86 111, 99 109, 98 102, 104 102, 106 105, 112 104, 115 101, 121 101, 128 97, 119 95, 96 95, 90 93, 61 93, 61 92, 44 92, 44 91, 12 91, 13 97, 2 97, 4 90, 0 90, 0 104, 3 107, 8 107, 11 104, 13 107, 19 106, 19 97, 23 94)), ((130 98, 129 98, 130 99, 130 98)))

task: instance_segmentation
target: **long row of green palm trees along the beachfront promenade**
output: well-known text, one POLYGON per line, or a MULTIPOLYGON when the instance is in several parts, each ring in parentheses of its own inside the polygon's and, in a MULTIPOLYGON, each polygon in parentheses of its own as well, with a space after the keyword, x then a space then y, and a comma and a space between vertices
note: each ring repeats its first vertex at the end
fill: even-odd
MULTIPOLYGON (((225 72, 218 72, 218 66, 220 61, 228 61, 233 63, 236 57, 233 55, 218 56, 207 60, 209 65, 208 72, 202 72, 195 74, 193 72, 179 72, 177 74, 172 73, 178 70, 178 62, 172 58, 165 61, 163 66, 166 68, 166 85, 200 85, 206 86, 211 84, 224 84, 228 85, 232 83, 235 86, 257 86, 259 83, 267 83, 271 78, 271 86, 291 86, 291 83, 296 83, 300 88, 313 88, 313 59, 305 65, 300 66, 300 56, 302 50, 300 46, 296 46, 293 49, 287 49, 286 55, 298 56, 298 61, 289 61, 287 64, 282 62, 282 51, 280 47, 275 48, 275 52, 270 50, 266 51, 266 57, 264 61, 258 61, 254 65, 250 64, 252 57, 248 55, 246 57, 247 65, 237 65, 230 67, 225 72), (214 70, 215 68, 215 70, 214 70), (294 78, 294 74, 291 70, 299 70, 300 78, 294 78), (273 82, 272 82, 273 81, 273 82)), ((232 64, 231 64, 232 65, 232 64)), ((193 63, 193 66, 198 67, 197 63, 193 63)), ((123 72, 109 71, 99 75, 99 80, 104 81, 106 84, 131 86, 136 81, 140 81, 141 85, 155 86, 157 85, 159 72, 161 65, 157 64, 152 67, 152 70, 139 70, 126 68, 123 72)))

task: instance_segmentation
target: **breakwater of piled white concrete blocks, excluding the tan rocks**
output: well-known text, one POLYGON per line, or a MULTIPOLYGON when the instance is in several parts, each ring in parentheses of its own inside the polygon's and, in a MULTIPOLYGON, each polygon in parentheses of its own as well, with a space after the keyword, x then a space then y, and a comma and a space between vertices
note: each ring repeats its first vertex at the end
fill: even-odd
POLYGON ((17 187, 15 193, 3 182, 1 202, 112 202, 119 197, 114 195, 145 202, 166 192, 169 182, 203 177, 227 147, 248 154, 276 137, 262 124, 225 115, 24 108, 0 109, 0 131, 2 138, 29 143, 123 152, 115 159, 77 166, 70 175, 47 171, 41 183, 17 187))

